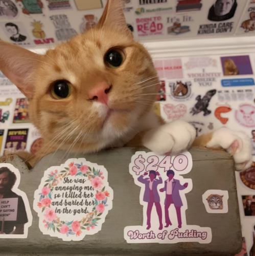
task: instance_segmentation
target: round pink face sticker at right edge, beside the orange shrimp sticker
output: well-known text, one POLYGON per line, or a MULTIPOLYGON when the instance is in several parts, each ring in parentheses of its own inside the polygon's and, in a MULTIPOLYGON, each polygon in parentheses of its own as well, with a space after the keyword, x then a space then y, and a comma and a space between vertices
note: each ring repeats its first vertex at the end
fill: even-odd
POLYGON ((241 104, 235 112, 236 120, 245 127, 255 127, 255 107, 251 104, 241 104))

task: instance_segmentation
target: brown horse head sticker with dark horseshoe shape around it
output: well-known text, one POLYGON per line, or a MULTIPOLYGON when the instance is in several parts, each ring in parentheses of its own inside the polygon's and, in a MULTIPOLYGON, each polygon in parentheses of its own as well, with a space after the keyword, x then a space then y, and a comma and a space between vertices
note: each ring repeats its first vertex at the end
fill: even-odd
POLYGON ((170 82, 170 97, 176 101, 184 101, 191 98, 191 82, 182 82, 182 81, 176 81, 176 82, 170 82))

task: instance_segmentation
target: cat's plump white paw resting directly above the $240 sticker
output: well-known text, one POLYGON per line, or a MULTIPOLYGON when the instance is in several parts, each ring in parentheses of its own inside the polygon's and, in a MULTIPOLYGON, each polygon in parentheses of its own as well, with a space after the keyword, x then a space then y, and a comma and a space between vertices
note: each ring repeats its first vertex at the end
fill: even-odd
POLYGON ((194 126, 178 120, 147 132, 143 138, 143 144, 157 155, 166 155, 170 152, 176 155, 187 150, 195 137, 194 126))

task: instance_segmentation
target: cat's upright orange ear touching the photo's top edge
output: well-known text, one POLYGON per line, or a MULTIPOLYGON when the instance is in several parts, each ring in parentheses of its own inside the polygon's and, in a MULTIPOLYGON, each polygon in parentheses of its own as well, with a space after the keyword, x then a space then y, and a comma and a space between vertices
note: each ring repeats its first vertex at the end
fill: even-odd
POLYGON ((120 31, 120 33, 125 33, 126 35, 133 37, 132 32, 127 27, 122 0, 108 0, 102 17, 97 25, 100 29, 104 26, 111 27, 120 31))

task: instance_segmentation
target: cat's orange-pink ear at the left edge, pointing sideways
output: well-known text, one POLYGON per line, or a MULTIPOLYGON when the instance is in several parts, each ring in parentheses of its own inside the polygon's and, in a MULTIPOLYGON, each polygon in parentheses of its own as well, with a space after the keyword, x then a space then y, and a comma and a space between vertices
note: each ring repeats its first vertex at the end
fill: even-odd
POLYGON ((30 75, 42 59, 42 55, 0 40, 0 70, 28 98, 34 91, 30 75))

